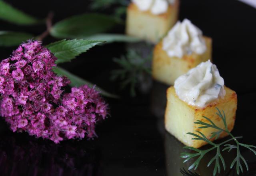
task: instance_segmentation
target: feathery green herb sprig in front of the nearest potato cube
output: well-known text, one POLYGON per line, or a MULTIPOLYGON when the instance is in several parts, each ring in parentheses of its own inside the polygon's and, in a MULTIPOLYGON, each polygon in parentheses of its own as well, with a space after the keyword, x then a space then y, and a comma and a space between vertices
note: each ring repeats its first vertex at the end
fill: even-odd
POLYGON ((239 138, 242 138, 242 136, 238 136, 238 137, 234 137, 228 130, 228 126, 227 126, 227 123, 226 123, 226 115, 224 113, 224 111, 222 110, 222 112, 216 108, 218 112, 216 112, 216 114, 222 119, 223 123, 224 123, 224 129, 216 126, 216 124, 214 124, 214 122, 212 122, 212 120, 210 120, 209 118, 203 116, 203 118, 205 118, 206 120, 208 120, 208 122, 210 123, 206 123, 206 122, 202 122, 201 120, 197 120, 196 122, 194 122, 195 124, 199 124, 201 125, 199 128, 215 128, 217 129, 216 132, 212 132, 212 136, 210 137, 211 138, 215 138, 215 139, 218 139, 220 134, 222 132, 226 132, 229 136, 231 136, 230 139, 220 143, 220 144, 215 144, 214 142, 210 141, 210 139, 208 139, 202 132, 200 131, 196 131, 198 132, 198 134, 195 134, 195 133, 192 133, 192 132, 189 132, 187 134, 190 134, 192 136, 194 136, 194 138, 192 138, 192 140, 203 140, 203 141, 206 141, 208 144, 212 145, 213 147, 212 148, 209 148, 207 150, 200 150, 198 148, 194 148, 194 147, 189 147, 189 146, 186 146, 184 147, 184 149, 189 149, 189 150, 193 150, 195 151, 196 153, 188 153, 188 152, 183 152, 181 153, 181 158, 186 158, 184 160, 184 162, 187 162, 188 160, 194 158, 194 157, 197 157, 197 160, 188 168, 188 170, 194 168, 194 170, 196 170, 196 168, 198 168, 198 165, 200 163, 200 160, 205 156, 205 154, 207 154, 208 152, 216 149, 216 155, 210 160, 210 162, 208 163, 208 167, 214 162, 215 163, 215 166, 214 166, 214 171, 213 171, 213 175, 215 176, 218 173, 220 173, 220 170, 221 170, 221 164, 223 166, 223 169, 226 170, 226 164, 225 164, 225 161, 224 161, 224 158, 221 154, 221 152, 225 151, 225 150, 228 150, 228 152, 230 152, 232 149, 236 149, 236 158, 234 158, 233 162, 231 163, 230 165, 230 169, 232 169, 234 166, 236 167, 236 172, 237 174, 239 175, 240 172, 242 173, 243 172, 243 166, 242 166, 242 163, 244 163, 244 165, 246 166, 246 169, 247 171, 249 170, 248 168, 248 164, 246 162, 246 160, 244 159, 244 157, 242 156, 242 154, 240 153, 240 147, 243 146, 245 148, 248 148, 249 150, 251 150, 255 155, 256 155, 256 151, 253 149, 253 148, 256 148, 256 146, 253 146, 253 145, 248 145, 248 144, 242 144, 240 142, 238 142, 237 139, 239 138), (226 144, 227 142, 230 142, 234 140, 236 142, 236 145, 231 145, 231 144, 226 144), (223 150, 220 150, 220 146, 226 146, 223 150), (220 164, 221 162, 221 164, 220 164))

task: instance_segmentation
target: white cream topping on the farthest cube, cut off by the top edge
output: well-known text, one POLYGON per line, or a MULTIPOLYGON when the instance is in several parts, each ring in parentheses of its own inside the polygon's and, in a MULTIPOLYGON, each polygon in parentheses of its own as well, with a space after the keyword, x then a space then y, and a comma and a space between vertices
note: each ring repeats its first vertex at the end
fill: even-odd
POLYGON ((167 12, 169 4, 174 4, 175 0, 132 0, 141 10, 150 10, 152 14, 158 15, 167 12))

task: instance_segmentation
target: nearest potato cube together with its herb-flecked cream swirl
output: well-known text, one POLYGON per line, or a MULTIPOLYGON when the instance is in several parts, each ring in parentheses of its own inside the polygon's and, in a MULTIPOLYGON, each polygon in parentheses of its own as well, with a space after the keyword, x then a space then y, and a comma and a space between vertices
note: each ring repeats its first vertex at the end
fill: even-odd
MULTIPOLYGON (((202 132, 210 139, 214 128, 198 128, 196 120, 207 122, 206 116, 216 126, 224 128, 221 118, 216 114, 216 108, 226 114, 228 130, 234 127, 236 118, 236 92, 224 86, 216 65, 210 60, 192 68, 188 73, 180 76, 174 86, 167 90, 167 107, 165 112, 165 128, 186 146, 199 148, 205 144, 202 140, 192 140, 188 132, 198 134, 202 132)), ((221 133, 219 138, 227 136, 221 133)), ((214 140, 211 138, 210 140, 214 140)))

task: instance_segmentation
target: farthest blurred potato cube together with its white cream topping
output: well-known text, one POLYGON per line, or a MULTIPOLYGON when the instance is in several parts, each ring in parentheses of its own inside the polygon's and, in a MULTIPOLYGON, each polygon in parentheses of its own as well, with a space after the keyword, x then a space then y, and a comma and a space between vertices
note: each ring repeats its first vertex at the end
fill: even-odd
POLYGON ((158 42, 178 19, 179 0, 132 0, 127 9, 126 34, 158 42))

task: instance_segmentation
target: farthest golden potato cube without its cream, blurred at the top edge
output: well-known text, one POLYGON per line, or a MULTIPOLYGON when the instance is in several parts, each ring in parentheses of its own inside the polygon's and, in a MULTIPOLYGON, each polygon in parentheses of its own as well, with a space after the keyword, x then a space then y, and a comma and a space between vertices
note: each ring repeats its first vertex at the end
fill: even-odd
POLYGON ((179 0, 159 15, 141 11, 136 4, 127 8, 126 34, 157 43, 178 20, 179 0))

